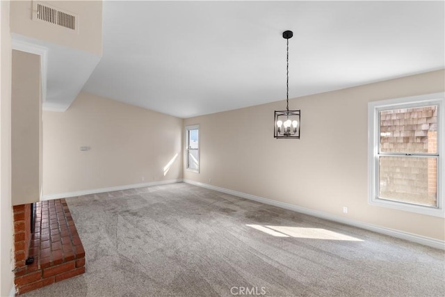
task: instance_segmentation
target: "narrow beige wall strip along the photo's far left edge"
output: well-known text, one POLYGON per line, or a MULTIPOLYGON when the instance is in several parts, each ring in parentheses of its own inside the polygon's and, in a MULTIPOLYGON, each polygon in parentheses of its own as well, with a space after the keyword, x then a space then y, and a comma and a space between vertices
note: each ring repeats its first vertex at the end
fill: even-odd
POLYGON ((14 287, 11 202, 11 41, 9 1, 0 1, 0 296, 14 287))

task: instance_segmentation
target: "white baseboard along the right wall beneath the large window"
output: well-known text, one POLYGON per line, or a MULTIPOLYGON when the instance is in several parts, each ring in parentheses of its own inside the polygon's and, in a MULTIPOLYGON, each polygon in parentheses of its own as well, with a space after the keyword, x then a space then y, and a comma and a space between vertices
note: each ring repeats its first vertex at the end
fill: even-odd
POLYGON ((306 209, 304 207, 298 207, 298 206, 293 205, 293 204, 288 204, 288 203, 284 203, 284 202, 270 200, 270 199, 267 199, 267 198, 258 197, 258 196, 255 196, 255 195, 250 195, 250 194, 241 193, 241 192, 238 192, 238 191, 229 190, 228 188, 220 188, 219 186, 212 186, 211 184, 204 184, 202 182, 195 182, 195 181, 193 181, 191 179, 184 179, 183 182, 185 182, 187 184, 193 184, 195 186, 201 186, 202 188, 209 188, 211 190, 218 191, 218 192, 221 192, 221 193, 226 193, 226 194, 238 196, 238 197, 249 199, 249 200, 254 200, 254 201, 257 201, 257 202, 264 203, 264 204, 273 205, 275 207, 281 207, 283 209, 289 209, 291 211, 296 211, 296 212, 299 212, 301 214, 308 214, 309 216, 316 216, 317 218, 324 218, 326 220, 333 220, 334 222, 343 223, 343 224, 351 225, 351 226, 354 226, 354 227, 359 227, 359 228, 362 228, 362 229, 365 229, 365 230, 378 232, 380 234, 393 236, 393 237, 396 237, 396 238, 399 238, 399 239, 405 239, 407 241, 412 241, 412 242, 415 242, 415 243, 423 244, 424 246, 430 246, 432 248, 439 248, 441 250, 445 250, 445 241, 441 241, 441 240, 438 240, 438 239, 432 239, 430 237, 420 236, 420 235, 416 235, 416 234, 412 234, 412 233, 408 233, 408 232, 403 232, 403 231, 400 231, 400 230, 394 230, 394 229, 390 229, 390 228, 387 228, 387 227, 380 227, 378 225, 364 223, 364 222, 360 222, 358 220, 351 220, 350 218, 343 218, 341 216, 335 216, 333 214, 326 214, 323 211, 316 211, 316 210, 312 210, 312 209, 306 209))

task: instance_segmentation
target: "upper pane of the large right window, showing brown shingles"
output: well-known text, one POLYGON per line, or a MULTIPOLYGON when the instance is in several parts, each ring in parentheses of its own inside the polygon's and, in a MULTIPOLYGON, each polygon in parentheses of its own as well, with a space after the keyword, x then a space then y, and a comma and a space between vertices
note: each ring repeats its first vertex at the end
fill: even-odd
POLYGON ((380 111, 380 152, 437 153, 437 106, 380 111))

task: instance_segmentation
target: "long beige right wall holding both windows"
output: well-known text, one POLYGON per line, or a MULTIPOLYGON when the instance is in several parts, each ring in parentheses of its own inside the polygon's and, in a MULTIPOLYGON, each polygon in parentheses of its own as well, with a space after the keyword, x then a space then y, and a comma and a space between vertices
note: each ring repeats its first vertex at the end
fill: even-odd
POLYGON ((291 99, 302 111, 300 140, 273 138, 284 100, 188 118, 184 125, 200 124, 201 167, 184 179, 443 241, 444 218, 368 204, 367 110, 371 101, 443 92, 444 79, 441 70, 291 99))

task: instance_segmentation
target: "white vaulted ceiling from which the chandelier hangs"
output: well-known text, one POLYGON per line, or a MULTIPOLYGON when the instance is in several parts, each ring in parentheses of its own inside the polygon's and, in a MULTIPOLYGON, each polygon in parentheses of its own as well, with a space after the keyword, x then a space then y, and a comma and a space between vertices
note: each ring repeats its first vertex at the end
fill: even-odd
POLYGON ((444 1, 104 1, 103 9, 104 53, 83 90, 180 118, 286 99, 286 30, 289 97, 445 67, 444 1))

